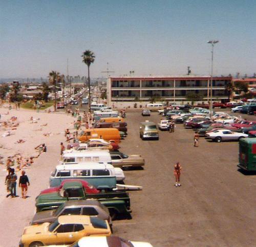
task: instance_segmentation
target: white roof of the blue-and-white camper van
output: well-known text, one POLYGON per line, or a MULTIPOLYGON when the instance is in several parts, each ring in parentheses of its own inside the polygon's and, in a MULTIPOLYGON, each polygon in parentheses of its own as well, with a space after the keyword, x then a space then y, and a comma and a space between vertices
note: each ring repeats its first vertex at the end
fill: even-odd
POLYGON ((113 165, 102 162, 81 162, 81 163, 64 163, 56 166, 57 170, 77 170, 77 169, 114 169, 113 165))

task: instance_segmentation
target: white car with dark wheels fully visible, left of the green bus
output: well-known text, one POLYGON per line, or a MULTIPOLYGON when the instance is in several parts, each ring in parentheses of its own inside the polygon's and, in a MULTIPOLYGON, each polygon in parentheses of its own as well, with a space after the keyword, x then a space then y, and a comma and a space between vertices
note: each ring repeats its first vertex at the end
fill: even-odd
POLYGON ((230 140, 240 140, 241 138, 248 137, 247 134, 239 133, 239 132, 232 132, 230 130, 220 129, 208 132, 206 134, 206 138, 212 139, 217 142, 221 141, 230 141, 230 140))

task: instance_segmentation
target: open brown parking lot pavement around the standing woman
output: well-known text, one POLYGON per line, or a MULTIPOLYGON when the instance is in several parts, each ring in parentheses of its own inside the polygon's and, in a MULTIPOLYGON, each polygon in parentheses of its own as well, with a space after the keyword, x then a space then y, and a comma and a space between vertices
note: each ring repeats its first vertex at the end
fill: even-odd
POLYGON ((159 141, 142 141, 139 123, 161 118, 155 112, 150 117, 127 113, 129 134, 121 151, 141 154, 145 166, 125 171, 125 183, 143 190, 130 192, 133 219, 114 221, 114 235, 154 246, 254 245, 256 176, 237 170, 238 142, 200 138, 194 147, 194 132, 183 125, 175 133, 160 132, 159 141), (179 188, 173 175, 177 161, 182 166, 179 188))

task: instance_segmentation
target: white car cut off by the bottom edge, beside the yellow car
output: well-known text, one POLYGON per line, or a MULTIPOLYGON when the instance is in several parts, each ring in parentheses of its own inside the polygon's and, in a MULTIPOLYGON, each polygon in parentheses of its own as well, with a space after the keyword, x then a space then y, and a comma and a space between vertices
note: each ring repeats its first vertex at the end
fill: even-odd
POLYGON ((125 240, 120 237, 82 237, 69 247, 153 247, 147 242, 125 240))

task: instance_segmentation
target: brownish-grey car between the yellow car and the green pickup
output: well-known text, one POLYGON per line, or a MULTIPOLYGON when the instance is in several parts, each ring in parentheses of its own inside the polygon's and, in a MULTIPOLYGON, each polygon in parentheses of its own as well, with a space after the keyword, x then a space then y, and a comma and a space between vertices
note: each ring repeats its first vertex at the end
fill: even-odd
POLYGON ((110 226, 112 225, 109 209, 97 200, 72 200, 63 203, 57 209, 37 212, 30 225, 52 223, 61 215, 89 215, 108 220, 110 226))

